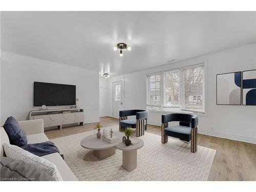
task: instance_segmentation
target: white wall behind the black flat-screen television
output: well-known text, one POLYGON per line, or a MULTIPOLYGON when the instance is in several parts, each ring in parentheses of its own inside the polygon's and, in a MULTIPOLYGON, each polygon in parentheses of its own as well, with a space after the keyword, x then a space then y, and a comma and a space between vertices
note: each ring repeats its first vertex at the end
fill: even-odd
POLYGON ((78 107, 85 110, 85 123, 99 121, 99 75, 97 71, 9 52, 2 52, 2 121, 9 116, 14 116, 17 120, 28 119, 29 111, 39 108, 33 107, 33 81, 76 85, 78 107))

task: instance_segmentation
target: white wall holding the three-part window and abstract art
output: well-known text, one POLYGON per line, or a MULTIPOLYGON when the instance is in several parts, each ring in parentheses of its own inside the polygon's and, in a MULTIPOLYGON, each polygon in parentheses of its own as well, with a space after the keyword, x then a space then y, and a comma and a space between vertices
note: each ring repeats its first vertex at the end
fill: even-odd
MULTIPOLYGON (((146 109, 146 74, 207 61, 208 110, 206 117, 199 117, 199 133, 256 143, 256 106, 216 105, 216 74, 256 69, 255 55, 254 43, 109 78, 108 115, 112 116, 112 82, 124 78, 125 109, 146 109)), ((160 125, 162 114, 164 113, 150 111, 148 122, 160 125)))

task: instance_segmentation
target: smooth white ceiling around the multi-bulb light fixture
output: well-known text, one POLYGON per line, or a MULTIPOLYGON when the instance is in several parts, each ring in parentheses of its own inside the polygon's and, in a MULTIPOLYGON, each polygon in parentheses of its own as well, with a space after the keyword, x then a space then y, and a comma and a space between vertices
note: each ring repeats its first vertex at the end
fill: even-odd
POLYGON ((256 41, 256 12, 2 12, 1 49, 111 76, 256 41), (132 51, 114 52, 118 42, 132 51))

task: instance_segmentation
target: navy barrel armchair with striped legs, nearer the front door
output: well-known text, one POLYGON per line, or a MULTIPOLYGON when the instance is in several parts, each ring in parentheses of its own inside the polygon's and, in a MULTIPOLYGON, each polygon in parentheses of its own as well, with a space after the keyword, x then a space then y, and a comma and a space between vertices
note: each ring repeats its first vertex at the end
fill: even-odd
POLYGON ((136 129, 136 137, 144 135, 144 130, 147 129, 146 110, 124 110, 119 111, 119 131, 123 131, 125 127, 132 127, 136 129), (136 119, 128 119, 127 116, 136 115, 136 119))

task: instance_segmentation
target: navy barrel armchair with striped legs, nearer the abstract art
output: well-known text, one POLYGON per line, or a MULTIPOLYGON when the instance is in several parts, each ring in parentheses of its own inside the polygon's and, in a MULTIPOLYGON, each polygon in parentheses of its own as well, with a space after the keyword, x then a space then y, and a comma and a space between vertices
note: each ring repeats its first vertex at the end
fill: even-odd
POLYGON ((179 138, 189 142, 191 140, 191 152, 197 151, 197 115, 170 113, 162 115, 161 136, 162 143, 168 141, 168 136, 179 138), (179 125, 168 126, 170 121, 180 121, 179 125))

